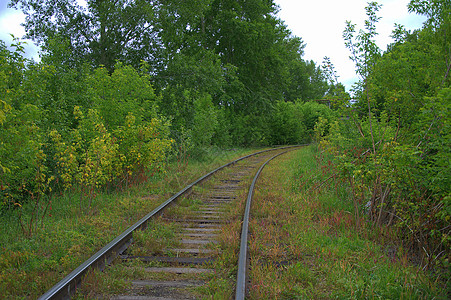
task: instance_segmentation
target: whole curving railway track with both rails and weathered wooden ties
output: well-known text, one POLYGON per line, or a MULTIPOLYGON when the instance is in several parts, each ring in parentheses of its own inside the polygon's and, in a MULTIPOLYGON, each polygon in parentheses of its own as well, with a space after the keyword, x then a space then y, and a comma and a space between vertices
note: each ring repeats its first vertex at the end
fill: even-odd
POLYGON ((211 288, 212 282, 228 282, 235 289, 235 299, 244 299, 253 188, 264 165, 290 149, 258 152, 199 178, 127 229, 40 299, 70 298, 90 270, 103 270, 113 261, 116 269, 126 270, 130 285, 119 295, 96 294, 95 298, 199 299, 200 291, 211 288), (223 272, 218 262, 224 261, 234 264, 234 274, 223 272))

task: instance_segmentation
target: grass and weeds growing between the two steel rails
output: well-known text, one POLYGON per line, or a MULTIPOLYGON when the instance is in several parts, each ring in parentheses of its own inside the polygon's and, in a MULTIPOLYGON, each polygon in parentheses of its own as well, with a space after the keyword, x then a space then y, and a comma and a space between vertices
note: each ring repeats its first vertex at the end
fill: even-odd
MULTIPOLYGON (((238 162, 235 166, 245 165, 245 162, 238 162)), ((255 170, 256 171, 256 170, 255 170)), ((230 172, 236 172, 230 168, 221 170, 200 186, 194 187, 194 192, 188 197, 178 202, 178 205, 171 206, 165 210, 162 218, 156 218, 148 228, 136 234, 136 243, 128 250, 131 255, 168 255, 162 251, 164 248, 177 246, 175 232, 179 224, 172 223, 171 218, 184 219, 191 213, 195 213, 202 203, 203 197, 209 197, 208 187, 221 184, 223 179, 230 177, 230 172), (206 192, 206 193, 205 193, 206 192)), ((127 293, 133 290, 131 282, 133 280, 181 280, 194 279, 205 281, 206 284, 194 287, 190 291, 198 299, 232 299, 235 291, 236 268, 239 253, 241 221, 244 211, 244 203, 247 196, 247 189, 254 172, 248 176, 249 180, 243 179, 241 185, 243 189, 238 190, 234 195, 236 199, 225 205, 221 211, 223 218, 228 222, 224 224, 219 232, 218 244, 209 245, 212 250, 217 250, 217 259, 214 262, 202 265, 202 268, 212 269, 213 273, 201 275, 174 275, 165 273, 146 272, 146 268, 154 266, 170 266, 160 262, 140 262, 139 260, 125 261, 117 259, 113 266, 100 274, 91 272, 87 276, 86 284, 77 295, 77 299, 95 299, 99 295, 110 297, 117 294, 127 293)), ((210 256, 208 254, 207 256, 210 256)), ((136 291, 134 291, 136 292, 136 291)), ((132 292, 133 293, 133 292, 132 292)))

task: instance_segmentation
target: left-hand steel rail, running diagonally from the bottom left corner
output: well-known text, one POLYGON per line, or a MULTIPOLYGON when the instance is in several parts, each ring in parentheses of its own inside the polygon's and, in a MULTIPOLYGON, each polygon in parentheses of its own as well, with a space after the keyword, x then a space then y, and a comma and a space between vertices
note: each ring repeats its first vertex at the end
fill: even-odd
POLYGON ((299 147, 299 146, 286 146, 286 147, 278 147, 278 148, 272 148, 272 149, 258 151, 258 152, 243 156, 241 158, 238 158, 238 159, 236 159, 232 162, 229 162, 223 166, 220 166, 219 168, 211 171, 210 173, 200 177, 199 179, 197 179, 193 183, 187 185, 185 188, 183 188, 178 193, 173 195, 171 198, 169 198, 168 200, 166 200, 165 202, 160 204, 152 212, 148 213, 146 216, 141 218, 141 220, 139 220, 134 225, 129 227, 123 233, 121 233, 118 237, 116 237, 109 244, 107 244, 105 247, 100 249, 97 253, 92 255, 89 259, 87 259, 85 262, 83 262, 80 266, 78 266, 70 274, 68 274, 66 277, 64 277, 60 282, 55 284, 51 289, 49 289, 45 294, 43 294, 38 299, 39 300, 70 299, 70 297, 75 293, 75 290, 80 286, 83 276, 86 274, 86 272, 90 268, 98 268, 100 270, 103 270, 106 265, 111 263, 117 256, 122 254, 128 248, 128 246, 132 243, 134 231, 140 230, 140 229, 145 229, 147 226, 147 222, 152 217, 161 213, 164 208, 166 208, 168 205, 170 205, 172 202, 174 202, 181 196, 183 196, 185 194, 189 194, 191 192, 193 186, 195 186, 196 184, 199 184, 202 181, 206 180, 207 178, 211 177, 216 172, 218 172, 228 166, 231 166, 241 160, 249 158, 251 156, 255 156, 255 155, 258 155, 258 154, 261 154, 264 152, 293 148, 293 147, 299 147))

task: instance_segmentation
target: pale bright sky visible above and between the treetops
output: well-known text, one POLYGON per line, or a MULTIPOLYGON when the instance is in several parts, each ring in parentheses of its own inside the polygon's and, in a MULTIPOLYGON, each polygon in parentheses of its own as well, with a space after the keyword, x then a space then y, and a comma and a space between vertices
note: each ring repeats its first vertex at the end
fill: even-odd
MULTIPOLYGON (((425 18, 409 14, 407 4, 410 0, 378 0, 382 8, 378 15, 382 17, 377 25, 377 44, 385 50, 392 42, 390 34, 394 23, 402 24, 408 30, 421 28, 425 18)), ((20 11, 7 8, 9 0, 0 0, 0 39, 7 45, 11 43, 10 33, 16 37, 25 34, 20 25, 25 17, 20 11)), ((344 46, 342 33, 347 20, 357 25, 357 31, 363 28, 365 0, 275 0, 279 5, 279 18, 291 30, 293 35, 302 38, 306 44, 304 59, 313 60, 319 66, 323 58, 331 58, 335 70, 349 90, 357 81, 353 62, 349 59, 349 51, 344 46)), ((26 56, 38 60, 38 49, 28 41, 26 56)))

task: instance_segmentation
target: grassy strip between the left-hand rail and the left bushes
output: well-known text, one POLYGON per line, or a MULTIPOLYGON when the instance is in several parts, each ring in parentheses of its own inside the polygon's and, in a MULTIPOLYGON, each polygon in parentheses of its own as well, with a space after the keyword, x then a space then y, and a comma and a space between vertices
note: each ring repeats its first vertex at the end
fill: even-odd
MULTIPOLYGON (((99 193, 91 207, 80 194, 54 197, 31 237, 18 210, 0 215, 0 298, 37 298, 170 195, 225 162, 252 152, 211 152, 203 161, 175 162, 166 174, 122 192, 99 193)), ((27 208, 24 208, 25 210, 27 208)))

